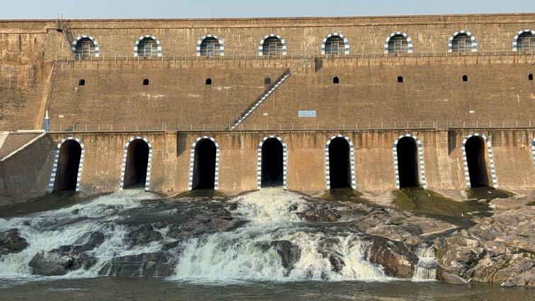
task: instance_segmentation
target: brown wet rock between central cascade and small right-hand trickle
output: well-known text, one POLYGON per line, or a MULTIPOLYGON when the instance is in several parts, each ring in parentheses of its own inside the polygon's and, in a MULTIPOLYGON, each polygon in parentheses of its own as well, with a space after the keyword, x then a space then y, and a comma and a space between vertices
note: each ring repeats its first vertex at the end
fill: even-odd
POLYGON ((371 237, 366 255, 368 261, 383 266, 385 274, 395 278, 412 278, 418 262, 409 246, 384 237, 371 237))

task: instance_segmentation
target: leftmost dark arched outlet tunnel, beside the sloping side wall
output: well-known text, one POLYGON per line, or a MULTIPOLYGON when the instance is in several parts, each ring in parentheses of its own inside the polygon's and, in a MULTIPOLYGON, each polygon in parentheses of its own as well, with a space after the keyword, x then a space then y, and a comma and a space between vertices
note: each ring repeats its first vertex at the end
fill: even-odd
POLYGON ((80 166, 81 145, 75 140, 67 140, 60 147, 57 160, 57 174, 54 191, 76 191, 80 166))

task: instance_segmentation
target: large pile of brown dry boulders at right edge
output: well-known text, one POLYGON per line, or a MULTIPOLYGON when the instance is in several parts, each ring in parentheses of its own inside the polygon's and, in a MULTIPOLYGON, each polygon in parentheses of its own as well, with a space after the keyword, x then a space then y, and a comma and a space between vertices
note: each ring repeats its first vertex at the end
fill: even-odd
POLYGON ((531 198, 492 200, 495 215, 435 239, 437 278, 535 287, 535 208, 526 205, 531 198))

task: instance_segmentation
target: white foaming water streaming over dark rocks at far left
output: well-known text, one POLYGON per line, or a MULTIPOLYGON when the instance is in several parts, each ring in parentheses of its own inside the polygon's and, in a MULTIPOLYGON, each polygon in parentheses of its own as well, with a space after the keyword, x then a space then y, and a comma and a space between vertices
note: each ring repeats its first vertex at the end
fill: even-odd
POLYGON ((121 212, 138 207, 140 200, 157 198, 152 193, 125 191, 98 197, 91 202, 73 205, 69 208, 39 212, 28 217, 0 219, 0 231, 17 228, 29 246, 17 254, 6 254, 0 259, 0 278, 25 278, 30 276, 28 263, 39 250, 50 251, 60 246, 74 244, 85 234, 103 232, 106 241, 87 252, 96 256, 98 263, 89 271, 73 271, 67 276, 97 276, 98 270, 113 256, 140 254, 159 249, 159 246, 143 246, 128 249, 124 243, 127 229, 113 225, 109 221, 120 217, 121 212), (87 219, 86 217, 89 217, 87 219), (138 253, 139 252, 139 253, 138 253))

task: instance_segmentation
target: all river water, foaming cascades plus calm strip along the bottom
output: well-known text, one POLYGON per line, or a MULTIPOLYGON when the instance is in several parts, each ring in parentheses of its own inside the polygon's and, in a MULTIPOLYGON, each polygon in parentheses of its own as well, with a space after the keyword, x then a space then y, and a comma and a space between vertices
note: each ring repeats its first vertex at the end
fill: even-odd
MULTIPOLYGON (((366 259, 361 233, 347 227, 314 227, 298 212, 305 200, 277 188, 242 195, 230 203, 232 216, 248 222, 230 232, 185 239, 176 252, 176 268, 166 278, 112 278, 98 276, 118 256, 157 252, 174 242, 162 229, 163 239, 131 246, 130 229, 121 222, 128 212, 143 212, 159 196, 140 191, 104 195, 94 200, 0 218, 0 231, 17 228, 29 246, 0 259, 1 300, 535 300, 524 289, 488 285, 445 285, 434 280, 432 249, 417 250, 415 277, 396 280, 366 259), (147 201, 149 200, 149 201, 147 201), (152 201, 151 201, 152 200, 152 201), (288 209, 291 208, 291 209, 288 209), (87 254, 97 263, 65 276, 33 276, 28 266, 39 250, 74 244, 87 233, 103 232, 106 240, 87 254), (301 249, 291 271, 266 242, 286 240, 301 249), (328 242, 328 243, 327 243, 328 242), (325 251, 344 261, 333 271, 325 251), (531 299, 530 299, 531 298, 531 299)), ((159 214, 172 215, 176 210, 159 214)), ((349 221, 349 220, 348 220, 349 221)))

